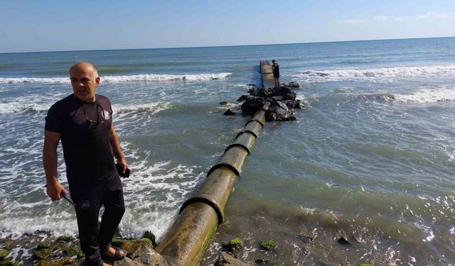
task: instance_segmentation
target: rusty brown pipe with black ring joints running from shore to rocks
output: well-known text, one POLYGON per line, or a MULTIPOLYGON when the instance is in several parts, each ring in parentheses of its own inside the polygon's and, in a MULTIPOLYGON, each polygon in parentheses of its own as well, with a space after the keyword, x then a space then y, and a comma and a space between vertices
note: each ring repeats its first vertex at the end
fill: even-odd
POLYGON ((247 122, 244 130, 226 148, 220 161, 208 171, 207 179, 181 206, 180 214, 168 229, 156 251, 169 265, 197 266, 218 224, 225 219, 226 202, 240 176, 245 157, 265 123, 267 102, 247 122))

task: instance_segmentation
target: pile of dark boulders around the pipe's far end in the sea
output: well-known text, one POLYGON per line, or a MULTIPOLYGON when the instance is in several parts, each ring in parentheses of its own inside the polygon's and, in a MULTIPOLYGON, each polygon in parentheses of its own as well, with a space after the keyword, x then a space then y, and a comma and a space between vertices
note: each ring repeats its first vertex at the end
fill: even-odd
POLYGON ((242 95, 237 101, 244 101, 242 113, 245 114, 254 113, 269 101, 270 106, 265 113, 267 121, 294 121, 294 109, 306 108, 303 101, 296 100, 296 92, 292 88, 298 87, 299 84, 294 82, 282 84, 279 89, 252 87, 248 91, 250 95, 242 95))

